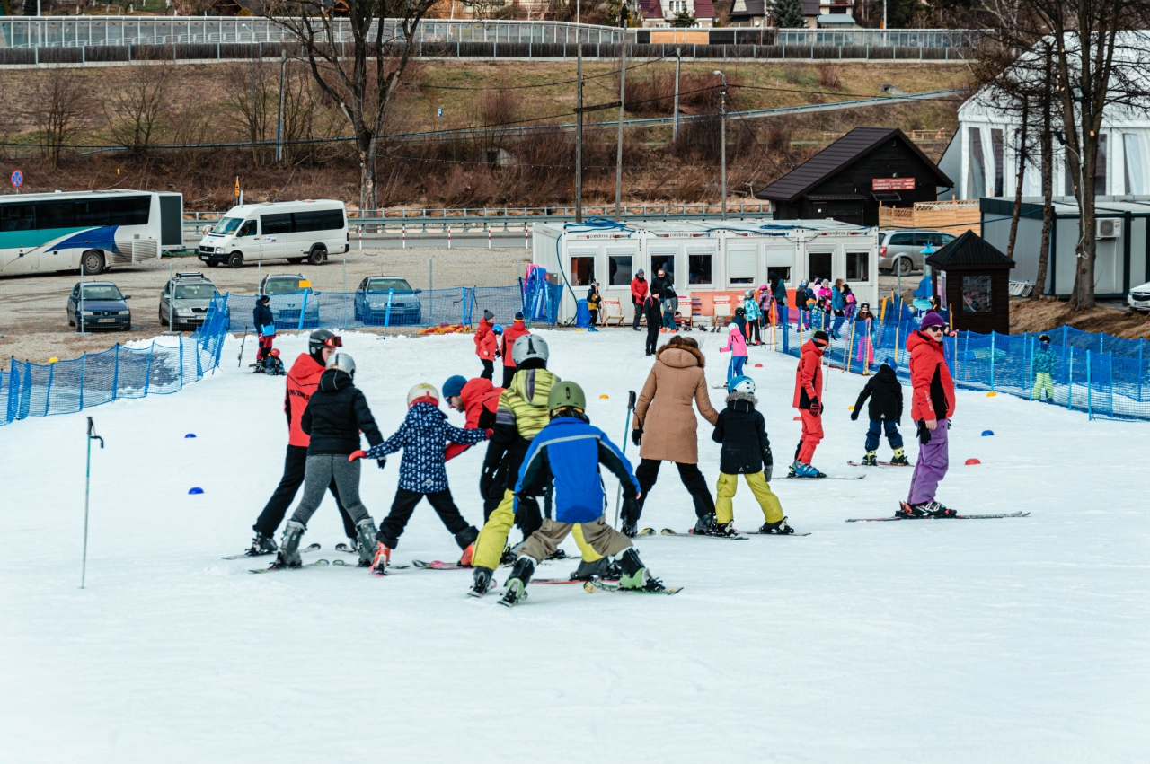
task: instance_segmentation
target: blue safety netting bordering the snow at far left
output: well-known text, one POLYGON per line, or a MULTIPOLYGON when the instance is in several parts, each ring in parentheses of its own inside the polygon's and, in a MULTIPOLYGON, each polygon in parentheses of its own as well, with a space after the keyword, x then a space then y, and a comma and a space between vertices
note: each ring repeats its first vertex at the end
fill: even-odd
POLYGON ((204 325, 171 345, 122 345, 56 363, 12 360, 0 371, 0 425, 30 416, 72 414, 118 398, 175 393, 220 363, 228 334, 228 298, 213 300, 204 325))

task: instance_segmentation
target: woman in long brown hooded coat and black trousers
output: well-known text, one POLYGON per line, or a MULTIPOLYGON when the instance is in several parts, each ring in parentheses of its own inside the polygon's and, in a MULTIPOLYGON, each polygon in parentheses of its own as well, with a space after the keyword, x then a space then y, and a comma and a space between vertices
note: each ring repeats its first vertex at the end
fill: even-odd
MULTIPOLYGON (((631 440, 639 446, 639 466, 635 477, 643 494, 638 511, 659 478, 659 465, 674 462, 678 477, 695 502, 697 532, 708 532, 715 522, 715 502, 707 481, 699 472, 699 445, 696 435, 698 419, 691 401, 703 418, 714 424, 719 412, 711 406, 707 380, 703 372, 706 358, 698 342, 689 337, 673 337, 656 353, 654 366, 643 385, 643 393, 635 406, 635 427, 631 440)), ((622 531, 634 537, 639 517, 624 517, 622 531)))

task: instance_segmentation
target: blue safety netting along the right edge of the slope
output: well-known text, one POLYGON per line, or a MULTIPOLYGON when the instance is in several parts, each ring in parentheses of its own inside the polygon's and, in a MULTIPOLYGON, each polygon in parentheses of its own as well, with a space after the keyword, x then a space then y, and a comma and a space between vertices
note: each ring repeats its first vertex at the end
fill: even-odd
MULTIPOLYGON (((828 333, 835 317, 821 312, 780 309, 775 348, 798 356, 799 347, 815 330, 828 333)), ((869 373, 875 364, 894 358, 896 372, 910 383, 906 338, 919 321, 843 321, 826 353, 830 366, 869 373)), ((943 339, 946 364, 957 387, 986 389, 1029 400, 1049 400, 1053 406, 1086 411, 1092 417, 1150 419, 1150 348, 1145 340, 1127 340, 1110 334, 1082 332, 1070 326, 1023 334, 977 334, 957 332, 943 339), (1042 377, 1041 342, 1049 334, 1052 358, 1050 380, 1042 377), (1038 361, 1036 363, 1036 361, 1038 361)))

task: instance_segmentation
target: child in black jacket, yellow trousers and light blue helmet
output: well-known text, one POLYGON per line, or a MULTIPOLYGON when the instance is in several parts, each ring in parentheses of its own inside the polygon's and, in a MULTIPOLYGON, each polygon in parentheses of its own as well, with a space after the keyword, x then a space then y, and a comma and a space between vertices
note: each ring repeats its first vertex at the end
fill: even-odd
POLYGON ((735 509, 731 500, 738 488, 738 476, 742 474, 751 493, 762 509, 766 523, 759 533, 793 533, 795 528, 787 525, 783 507, 779 496, 768 485, 774 468, 770 455, 770 441, 767 439, 767 424, 762 415, 756 410, 758 400, 754 398, 754 380, 750 377, 735 377, 727 383, 727 408, 719 412, 714 434, 711 440, 722 443, 719 456, 719 485, 715 497, 715 535, 738 535, 734 527, 735 509))

